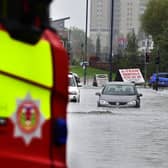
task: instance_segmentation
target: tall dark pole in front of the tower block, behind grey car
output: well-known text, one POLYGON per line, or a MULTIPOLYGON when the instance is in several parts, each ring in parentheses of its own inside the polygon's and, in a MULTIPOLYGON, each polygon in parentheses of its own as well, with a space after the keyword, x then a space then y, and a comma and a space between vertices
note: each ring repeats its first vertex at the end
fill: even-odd
POLYGON ((111 31, 110 31, 110 53, 109 53, 109 81, 112 81, 112 57, 113 57, 113 11, 114 11, 114 0, 111 0, 111 31))

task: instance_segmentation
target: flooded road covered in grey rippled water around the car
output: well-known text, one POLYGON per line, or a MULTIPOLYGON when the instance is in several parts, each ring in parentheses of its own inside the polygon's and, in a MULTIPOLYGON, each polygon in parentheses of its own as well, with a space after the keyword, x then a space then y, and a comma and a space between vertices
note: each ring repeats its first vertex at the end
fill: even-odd
POLYGON ((168 95, 139 88, 141 108, 97 108, 100 89, 68 106, 69 168, 167 168, 168 95))

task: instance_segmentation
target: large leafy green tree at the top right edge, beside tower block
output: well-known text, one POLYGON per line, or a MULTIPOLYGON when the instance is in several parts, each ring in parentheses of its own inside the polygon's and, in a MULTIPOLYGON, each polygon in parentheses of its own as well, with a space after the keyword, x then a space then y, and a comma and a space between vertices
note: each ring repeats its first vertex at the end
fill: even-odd
POLYGON ((160 52, 160 71, 168 71, 168 0, 150 0, 142 16, 142 29, 152 35, 155 49, 160 52))

